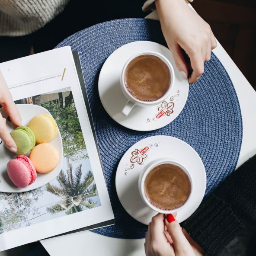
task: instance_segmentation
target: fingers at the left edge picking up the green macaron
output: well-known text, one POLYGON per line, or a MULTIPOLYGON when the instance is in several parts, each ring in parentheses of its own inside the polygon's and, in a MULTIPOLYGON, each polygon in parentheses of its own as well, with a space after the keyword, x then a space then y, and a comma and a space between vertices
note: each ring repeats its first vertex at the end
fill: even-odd
MULTIPOLYGON (((0 105, 3 106, 4 110, 6 111, 7 115, 10 116, 11 121, 16 126, 22 125, 22 119, 19 114, 19 111, 13 102, 12 95, 6 81, 4 80, 3 74, 0 71, 0 105)), ((13 141, 9 131, 6 128, 6 119, 2 117, 0 113, 0 139, 3 140, 3 143, 14 153, 17 151, 17 146, 13 141)))

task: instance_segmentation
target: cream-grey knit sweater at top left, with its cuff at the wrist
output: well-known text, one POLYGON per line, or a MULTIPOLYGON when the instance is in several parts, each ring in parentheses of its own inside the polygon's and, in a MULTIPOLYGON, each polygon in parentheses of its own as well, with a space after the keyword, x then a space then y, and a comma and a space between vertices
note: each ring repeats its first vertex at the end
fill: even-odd
MULTIPOLYGON (((61 13, 69 1, 0 0, 0 36, 28 35, 35 32, 61 13)), ((142 9, 153 9, 154 1, 147 0, 142 9)))

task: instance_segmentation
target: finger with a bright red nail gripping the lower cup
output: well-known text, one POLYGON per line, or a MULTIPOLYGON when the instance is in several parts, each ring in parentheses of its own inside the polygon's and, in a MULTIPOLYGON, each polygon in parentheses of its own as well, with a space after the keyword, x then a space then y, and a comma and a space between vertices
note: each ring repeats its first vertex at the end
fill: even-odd
POLYGON ((192 250, 192 248, 188 240, 182 233, 182 229, 179 225, 179 222, 175 220, 173 214, 167 214, 165 224, 168 233, 172 237, 175 253, 177 253, 177 255, 190 255, 187 253, 189 253, 192 250))

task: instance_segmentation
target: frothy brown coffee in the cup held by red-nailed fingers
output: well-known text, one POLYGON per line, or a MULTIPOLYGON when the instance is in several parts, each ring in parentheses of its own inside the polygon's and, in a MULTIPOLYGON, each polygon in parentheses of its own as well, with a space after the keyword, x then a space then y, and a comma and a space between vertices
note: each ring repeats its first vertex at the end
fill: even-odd
POLYGON ((163 211, 172 211, 188 200, 191 182, 182 168, 175 164, 163 163, 147 174, 144 192, 151 205, 163 211))

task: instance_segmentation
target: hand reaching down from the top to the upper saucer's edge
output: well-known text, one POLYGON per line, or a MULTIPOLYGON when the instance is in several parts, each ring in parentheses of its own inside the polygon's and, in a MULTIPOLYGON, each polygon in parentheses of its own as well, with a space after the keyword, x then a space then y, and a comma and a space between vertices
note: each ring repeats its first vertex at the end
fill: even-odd
POLYGON ((211 27, 185 0, 156 0, 163 35, 182 77, 192 74, 189 83, 195 83, 204 73, 204 62, 211 58, 211 50, 217 42, 211 27), (190 59, 186 62, 184 51, 190 59))

